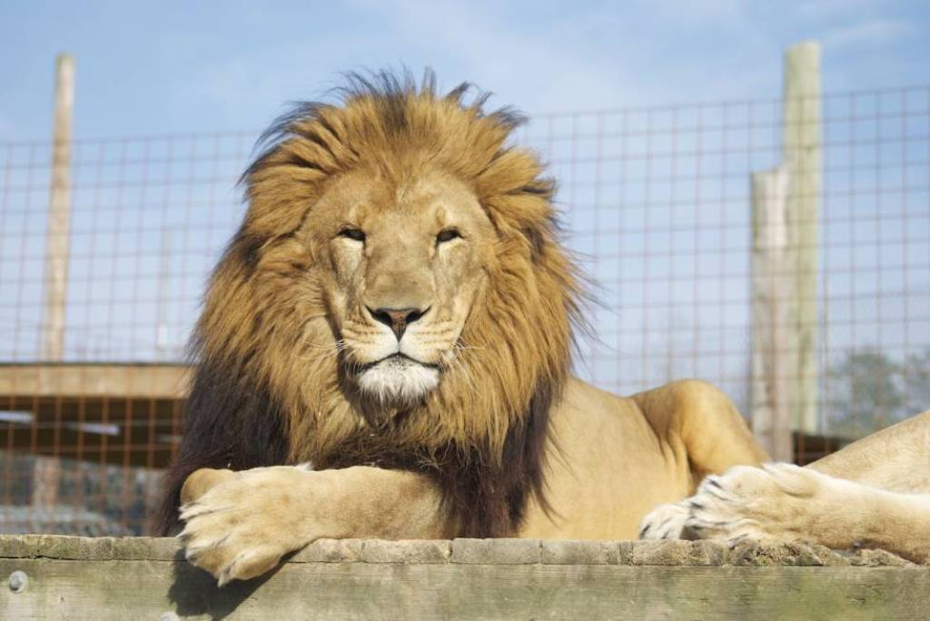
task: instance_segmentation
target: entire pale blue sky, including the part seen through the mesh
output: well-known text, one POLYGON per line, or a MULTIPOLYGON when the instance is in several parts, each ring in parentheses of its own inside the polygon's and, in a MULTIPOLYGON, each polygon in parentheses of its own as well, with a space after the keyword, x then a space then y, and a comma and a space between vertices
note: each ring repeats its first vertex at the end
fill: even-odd
POLYGON ((582 375, 705 377, 745 410, 749 179, 781 161, 782 54, 807 39, 827 93, 864 91, 824 100, 823 366, 930 348, 930 2, 260 4, 0 0, 0 360, 38 351, 56 53, 77 63, 66 357, 98 361, 177 357, 287 101, 429 65, 530 114, 604 302, 582 375))

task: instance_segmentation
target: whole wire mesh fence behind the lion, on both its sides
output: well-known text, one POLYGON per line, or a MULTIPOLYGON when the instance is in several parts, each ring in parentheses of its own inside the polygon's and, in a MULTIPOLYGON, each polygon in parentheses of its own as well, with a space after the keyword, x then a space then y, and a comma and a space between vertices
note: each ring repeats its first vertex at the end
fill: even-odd
MULTIPOLYGON (((801 453, 930 406, 930 86, 821 104, 817 420, 801 453)), ((568 112, 522 130, 596 282, 578 375, 619 393, 701 377, 753 415, 751 175, 784 161, 783 110, 568 112)), ((51 145, 0 144, 0 531, 145 531, 182 432, 184 345, 244 213, 235 182, 257 135, 73 142, 55 361, 42 353, 51 145)))

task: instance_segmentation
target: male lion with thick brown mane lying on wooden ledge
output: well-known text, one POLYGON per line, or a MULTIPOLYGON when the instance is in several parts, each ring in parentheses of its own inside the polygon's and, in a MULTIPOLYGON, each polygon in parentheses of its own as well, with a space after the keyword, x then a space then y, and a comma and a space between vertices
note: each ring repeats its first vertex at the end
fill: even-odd
POLYGON ((220 584, 320 537, 632 538, 766 458, 708 384, 570 377, 553 184, 468 91, 354 75, 246 170, 160 520, 220 584))

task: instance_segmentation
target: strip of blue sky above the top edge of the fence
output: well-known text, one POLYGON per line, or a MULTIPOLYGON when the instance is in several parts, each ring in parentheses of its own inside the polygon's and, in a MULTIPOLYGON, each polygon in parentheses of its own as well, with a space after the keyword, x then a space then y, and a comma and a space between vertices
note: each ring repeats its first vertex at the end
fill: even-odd
POLYGON ((257 129, 339 72, 431 65, 530 113, 777 95, 817 38, 830 91, 930 82, 930 3, 5 2, 0 141, 46 139, 77 59, 75 136, 257 129))

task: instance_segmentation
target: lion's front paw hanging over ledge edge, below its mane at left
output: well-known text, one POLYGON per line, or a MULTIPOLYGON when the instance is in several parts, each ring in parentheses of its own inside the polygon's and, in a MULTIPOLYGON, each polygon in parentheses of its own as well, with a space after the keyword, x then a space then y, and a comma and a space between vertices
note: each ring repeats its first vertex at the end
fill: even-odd
POLYGON ((302 508, 311 475, 285 466, 236 472, 183 505, 179 537, 187 560, 215 575, 220 587, 272 570, 313 538, 302 508))

